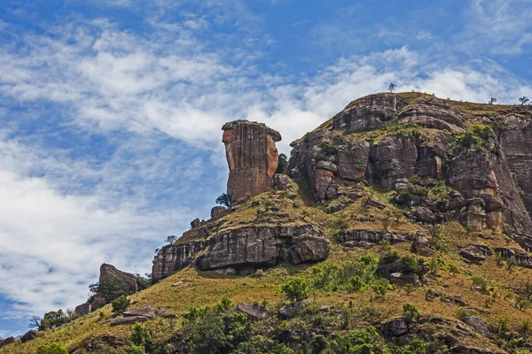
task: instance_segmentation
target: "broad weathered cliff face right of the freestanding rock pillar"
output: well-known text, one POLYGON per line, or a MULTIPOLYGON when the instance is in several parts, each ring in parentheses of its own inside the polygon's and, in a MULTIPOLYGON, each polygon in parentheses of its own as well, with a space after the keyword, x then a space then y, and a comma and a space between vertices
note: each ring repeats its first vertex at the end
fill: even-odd
POLYGON ((475 112, 433 96, 365 96, 292 143, 290 174, 306 175, 318 200, 367 181, 395 190, 398 204, 424 215, 420 221, 458 218, 530 248, 532 126, 526 108, 515 111, 475 112), (437 185, 445 200, 419 195, 437 185))

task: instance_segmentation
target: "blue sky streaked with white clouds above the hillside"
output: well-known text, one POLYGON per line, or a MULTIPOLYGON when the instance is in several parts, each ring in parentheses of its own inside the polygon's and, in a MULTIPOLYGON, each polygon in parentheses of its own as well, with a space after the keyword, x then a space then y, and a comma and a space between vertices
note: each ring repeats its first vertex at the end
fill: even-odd
POLYGON ((532 0, 2 0, 0 337, 87 300, 106 262, 208 219, 223 123, 278 149, 357 97, 532 97, 532 0))

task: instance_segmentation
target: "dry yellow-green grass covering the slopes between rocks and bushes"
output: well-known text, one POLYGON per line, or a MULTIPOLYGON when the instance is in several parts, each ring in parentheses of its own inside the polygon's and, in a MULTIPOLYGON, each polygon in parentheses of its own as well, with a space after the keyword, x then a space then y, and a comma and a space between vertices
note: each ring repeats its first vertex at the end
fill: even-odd
MULTIPOLYGON (((404 93, 401 96, 409 103, 432 97, 418 93, 404 93)), ((528 108, 519 106, 447 102, 462 112, 478 115, 507 114, 528 110, 528 108)), ((329 121, 325 122, 320 128, 330 128, 330 123, 329 121)), ((227 231, 234 227, 249 224, 290 223, 295 225, 310 222, 324 227, 325 235, 331 237, 338 232, 340 227, 345 226, 342 220, 346 220, 349 228, 387 230, 395 233, 414 233, 423 230, 422 226, 414 224, 403 217, 397 221, 395 217, 389 216, 389 213, 364 206, 364 200, 367 197, 376 198, 387 203, 390 194, 380 193, 365 187, 364 193, 367 194, 366 197, 349 205, 342 212, 329 214, 325 212, 328 204, 314 204, 308 197, 309 193, 306 190, 308 187, 305 187, 304 183, 301 184, 301 187, 301 190, 297 192, 297 196, 293 200, 283 192, 271 192, 255 196, 252 200, 242 205, 237 212, 233 212, 217 221, 219 225, 216 229, 227 231), (262 204, 252 206, 253 202, 259 200, 262 201, 262 204), (265 204, 274 204, 279 208, 279 211, 264 212, 265 204), (361 216, 364 216, 364 218, 361 218, 361 216), (368 217, 372 219, 368 221, 368 217)), ((297 190, 298 187, 294 184, 293 189, 297 190)), ((341 202, 342 200, 340 199, 330 204, 341 202)), ((394 212, 395 207, 387 203, 387 211, 394 212)), ((316 304, 345 306, 352 300, 359 307, 372 306, 379 309, 383 319, 399 315, 402 304, 408 302, 415 304, 422 315, 437 315, 457 319, 457 307, 445 305, 439 300, 426 300, 426 289, 438 289, 447 295, 461 296, 468 307, 481 312, 481 317, 488 323, 495 323, 500 316, 504 316, 509 320, 510 327, 516 328, 525 319, 529 319, 529 312, 517 310, 513 307, 512 298, 504 299, 503 297, 505 294, 518 289, 524 281, 528 281, 532 275, 532 270, 519 267, 513 267, 512 270, 508 270, 505 266, 497 266, 494 257, 489 258, 481 266, 468 265, 458 255, 458 250, 461 246, 471 243, 485 244, 492 249, 500 246, 515 248, 519 248, 519 246, 505 235, 491 231, 468 234, 456 223, 447 224, 444 229, 445 242, 449 245, 448 250, 431 257, 442 259, 442 270, 434 281, 419 286, 411 294, 407 294, 403 289, 394 289, 388 292, 386 300, 372 301, 372 292, 368 290, 364 293, 351 294, 341 292, 313 294, 310 301, 316 304), (445 269, 450 264, 458 266, 460 273, 457 275, 448 273, 445 269), (489 296, 482 295, 472 289, 472 276, 483 277, 489 281, 491 286, 495 287, 498 297, 491 307, 485 306, 486 298, 489 296)), ((185 234, 184 238, 177 242, 184 242, 184 240, 188 242, 198 237, 199 235, 191 232, 185 234)), ((394 249, 403 255, 411 254, 410 244, 399 244, 394 246, 394 249)), ((377 254, 377 252, 378 247, 343 250, 340 245, 332 242, 332 254, 326 262, 340 262, 349 258, 356 258, 365 253, 377 254)), ((212 272, 200 273, 194 269, 187 268, 160 281, 149 289, 130 296, 132 301, 130 308, 134 309, 151 304, 155 307, 163 307, 167 312, 178 315, 192 306, 215 304, 223 296, 229 297, 234 303, 251 303, 255 300, 262 301, 267 299, 271 304, 275 304, 284 301, 284 298, 278 294, 280 284, 287 279, 298 276, 301 272, 305 272, 308 267, 277 266, 268 270, 262 278, 223 276, 212 272), (185 280, 188 283, 181 287, 172 287, 171 285, 178 280, 185 280)), ((130 328, 128 326, 110 327, 109 319, 112 314, 110 306, 106 306, 102 311, 104 312, 103 319, 100 319, 98 312, 91 313, 81 319, 74 320, 64 327, 40 333, 35 341, 24 344, 18 342, 6 346, 0 349, 0 354, 34 354, 39 345, 51 342, 60 342, 69 350, 74 350, 79 348, 89 338, 102 335, 116 336, 122 338, 125 342, 129 342, 130 328)), ((160 339, 171 335, 179 326, 180 319, 154 319, 146 323, 146 327, 151 327, 158 331, 156 336, 160 339)), ((489 345, 485 342, 481 344, 489 345)))

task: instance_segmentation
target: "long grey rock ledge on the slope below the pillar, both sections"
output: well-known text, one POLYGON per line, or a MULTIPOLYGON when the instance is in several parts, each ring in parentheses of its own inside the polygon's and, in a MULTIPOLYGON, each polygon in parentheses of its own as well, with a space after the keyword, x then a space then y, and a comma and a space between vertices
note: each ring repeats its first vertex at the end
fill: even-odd
POLYGON ((164 246, 153 260, 152 279, 159 281, 192 264, 204 271, 244 274, 280 262, 296 265, 317 262, 328 255, 329 242, 322 231, 312 225, 244 226, 213 235, 205 241, 164 246))

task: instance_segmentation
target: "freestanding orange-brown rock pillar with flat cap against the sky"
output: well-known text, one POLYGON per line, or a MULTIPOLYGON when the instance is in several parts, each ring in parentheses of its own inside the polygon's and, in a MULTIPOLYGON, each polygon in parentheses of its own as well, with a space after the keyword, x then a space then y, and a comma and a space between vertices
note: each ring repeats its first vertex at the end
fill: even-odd
POLYGON ((227 194, 233 203, 256 196, 273 187, 278 167, 275 142, 281 135, 264 124, 236 120, 222 127, 229 181, 227 194))

